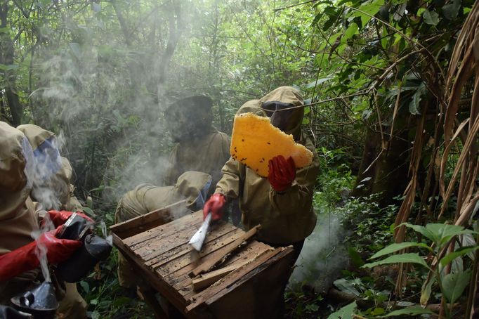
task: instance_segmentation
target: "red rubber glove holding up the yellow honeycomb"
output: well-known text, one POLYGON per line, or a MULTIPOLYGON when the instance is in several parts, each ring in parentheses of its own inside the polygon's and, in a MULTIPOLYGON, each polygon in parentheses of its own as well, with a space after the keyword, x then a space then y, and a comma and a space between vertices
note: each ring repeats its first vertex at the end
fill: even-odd
POLYGON ((278 155, 268 162, 268 181, 277 192, 284 192, 296 178, 296 165, 293 157, 285 159, 278 155))

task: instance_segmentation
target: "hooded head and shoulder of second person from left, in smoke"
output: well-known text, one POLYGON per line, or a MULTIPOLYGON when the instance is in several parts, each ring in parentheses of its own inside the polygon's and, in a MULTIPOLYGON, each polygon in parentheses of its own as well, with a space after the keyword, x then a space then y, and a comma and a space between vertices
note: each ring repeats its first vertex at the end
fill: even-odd
POLYGON ((41 202, 45 209, 59 209, 70 194, 70 163, 60 157, 53 132, 34 124, 20 125, 18 129, 25 134, 33 149, 33 199, 41 202))

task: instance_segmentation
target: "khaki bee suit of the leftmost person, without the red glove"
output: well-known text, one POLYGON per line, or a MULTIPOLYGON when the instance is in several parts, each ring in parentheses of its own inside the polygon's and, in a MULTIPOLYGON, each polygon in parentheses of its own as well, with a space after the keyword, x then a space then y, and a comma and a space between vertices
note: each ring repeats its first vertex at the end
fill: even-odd
MULTIPOLYGON (((32 231, 39 230, 39 214, 29 198, 31 181, 27 181, 23 173, 27 165, 25 147, 22 147, 25 143, 29 141, 21 131, 0 122, 0 255, 29 244, 33 241, 32 231)), ((0 282, 0 303, 9 304, 11 297, 39 283, 36 280, 42 280, 39 269, 0 282)), ((58 315, 86 318, 86 302, 77 287, 67 284, 62 288, 57 289, 58 315)))

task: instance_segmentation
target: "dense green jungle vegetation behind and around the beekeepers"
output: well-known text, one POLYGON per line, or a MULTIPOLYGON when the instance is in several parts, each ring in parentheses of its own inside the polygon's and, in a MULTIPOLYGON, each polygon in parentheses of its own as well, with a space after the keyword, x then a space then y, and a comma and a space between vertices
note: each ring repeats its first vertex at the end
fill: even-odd
MULTIPOLYGON (((333 287, 353 299, 302 282, 289 316, 471 318, 478 26, 472 0, 2 0, 0 117, 55 131, 77 196, 111 225, 118 196, 162 174, 168 103, 211 96, 229 134, 242 103, 296 86, 317 214, 348 230, 333 287)), ((92 318, 149 318, 115 262, 79 283, 92 318)))

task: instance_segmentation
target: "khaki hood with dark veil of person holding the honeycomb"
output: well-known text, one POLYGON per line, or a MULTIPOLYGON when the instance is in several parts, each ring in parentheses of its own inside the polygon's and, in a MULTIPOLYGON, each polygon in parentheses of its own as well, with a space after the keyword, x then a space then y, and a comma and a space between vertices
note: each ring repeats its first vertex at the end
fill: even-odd
POLYGON ((270 117, 270 122, 286 134, 292 134, 298 141, 301 136, 304 108, 303 96, 291 86, 280 86, 259 100, 244 103, 237 114, 252 112, 270 117))

